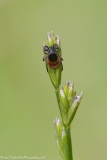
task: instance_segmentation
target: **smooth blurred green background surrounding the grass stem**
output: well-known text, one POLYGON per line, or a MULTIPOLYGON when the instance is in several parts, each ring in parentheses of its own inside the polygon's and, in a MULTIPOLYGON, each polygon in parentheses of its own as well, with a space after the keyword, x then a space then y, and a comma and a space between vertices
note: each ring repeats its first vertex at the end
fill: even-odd
POLYGON ((0 156, 61 160, 60 117, 42 62, 47 32, 60 36, 62 84, 84 92, 72 123, 74 160, 107 159, 107 1, 0 0, 0 156))

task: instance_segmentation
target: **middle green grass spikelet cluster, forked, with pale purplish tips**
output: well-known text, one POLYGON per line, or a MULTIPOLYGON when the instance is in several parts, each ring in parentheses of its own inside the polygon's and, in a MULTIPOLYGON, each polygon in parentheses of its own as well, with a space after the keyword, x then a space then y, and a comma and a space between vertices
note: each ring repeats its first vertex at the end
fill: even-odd
POLYGON ((76 96, 74 84, 70 83, 70 81, 66 82, 64 88, 61 87, 59 89, 60 110, 63 123, 66 126, 70 126, 81 102, 82 95, 81 92, 80 96, 76 96))

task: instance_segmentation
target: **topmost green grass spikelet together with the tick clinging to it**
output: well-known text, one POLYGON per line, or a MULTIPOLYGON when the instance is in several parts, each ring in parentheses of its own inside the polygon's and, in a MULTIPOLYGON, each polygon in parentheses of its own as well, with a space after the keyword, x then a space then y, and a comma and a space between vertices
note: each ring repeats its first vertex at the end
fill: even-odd
POLYGON ((47 72, 55 89, 58 89, 61 82, 61 72, 63 70, 61 47, 59 36, 55 36, 51 31, 47 34, 47 43, 43 44, 44 57, 47 72))

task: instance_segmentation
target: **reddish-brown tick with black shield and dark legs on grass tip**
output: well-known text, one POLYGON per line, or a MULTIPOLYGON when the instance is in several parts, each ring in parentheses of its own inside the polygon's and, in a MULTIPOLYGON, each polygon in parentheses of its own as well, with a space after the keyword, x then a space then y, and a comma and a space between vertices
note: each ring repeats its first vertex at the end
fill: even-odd
MULTIPOLYGON (((57 44, 54 44, 53 46, 50 46, 50 47, 44 46, 43 51, 44 51, 44 54, 46 54, 46 56, 43 57, 43 61, 46 61, 47 72, 48 72, 47 65, 52 69, 55 69, 60 65, 62 66, 63 59, 58 54, 59 47, 57 44)), ((62 70, 63 70, 63 66, 62 66, 62 70)))

